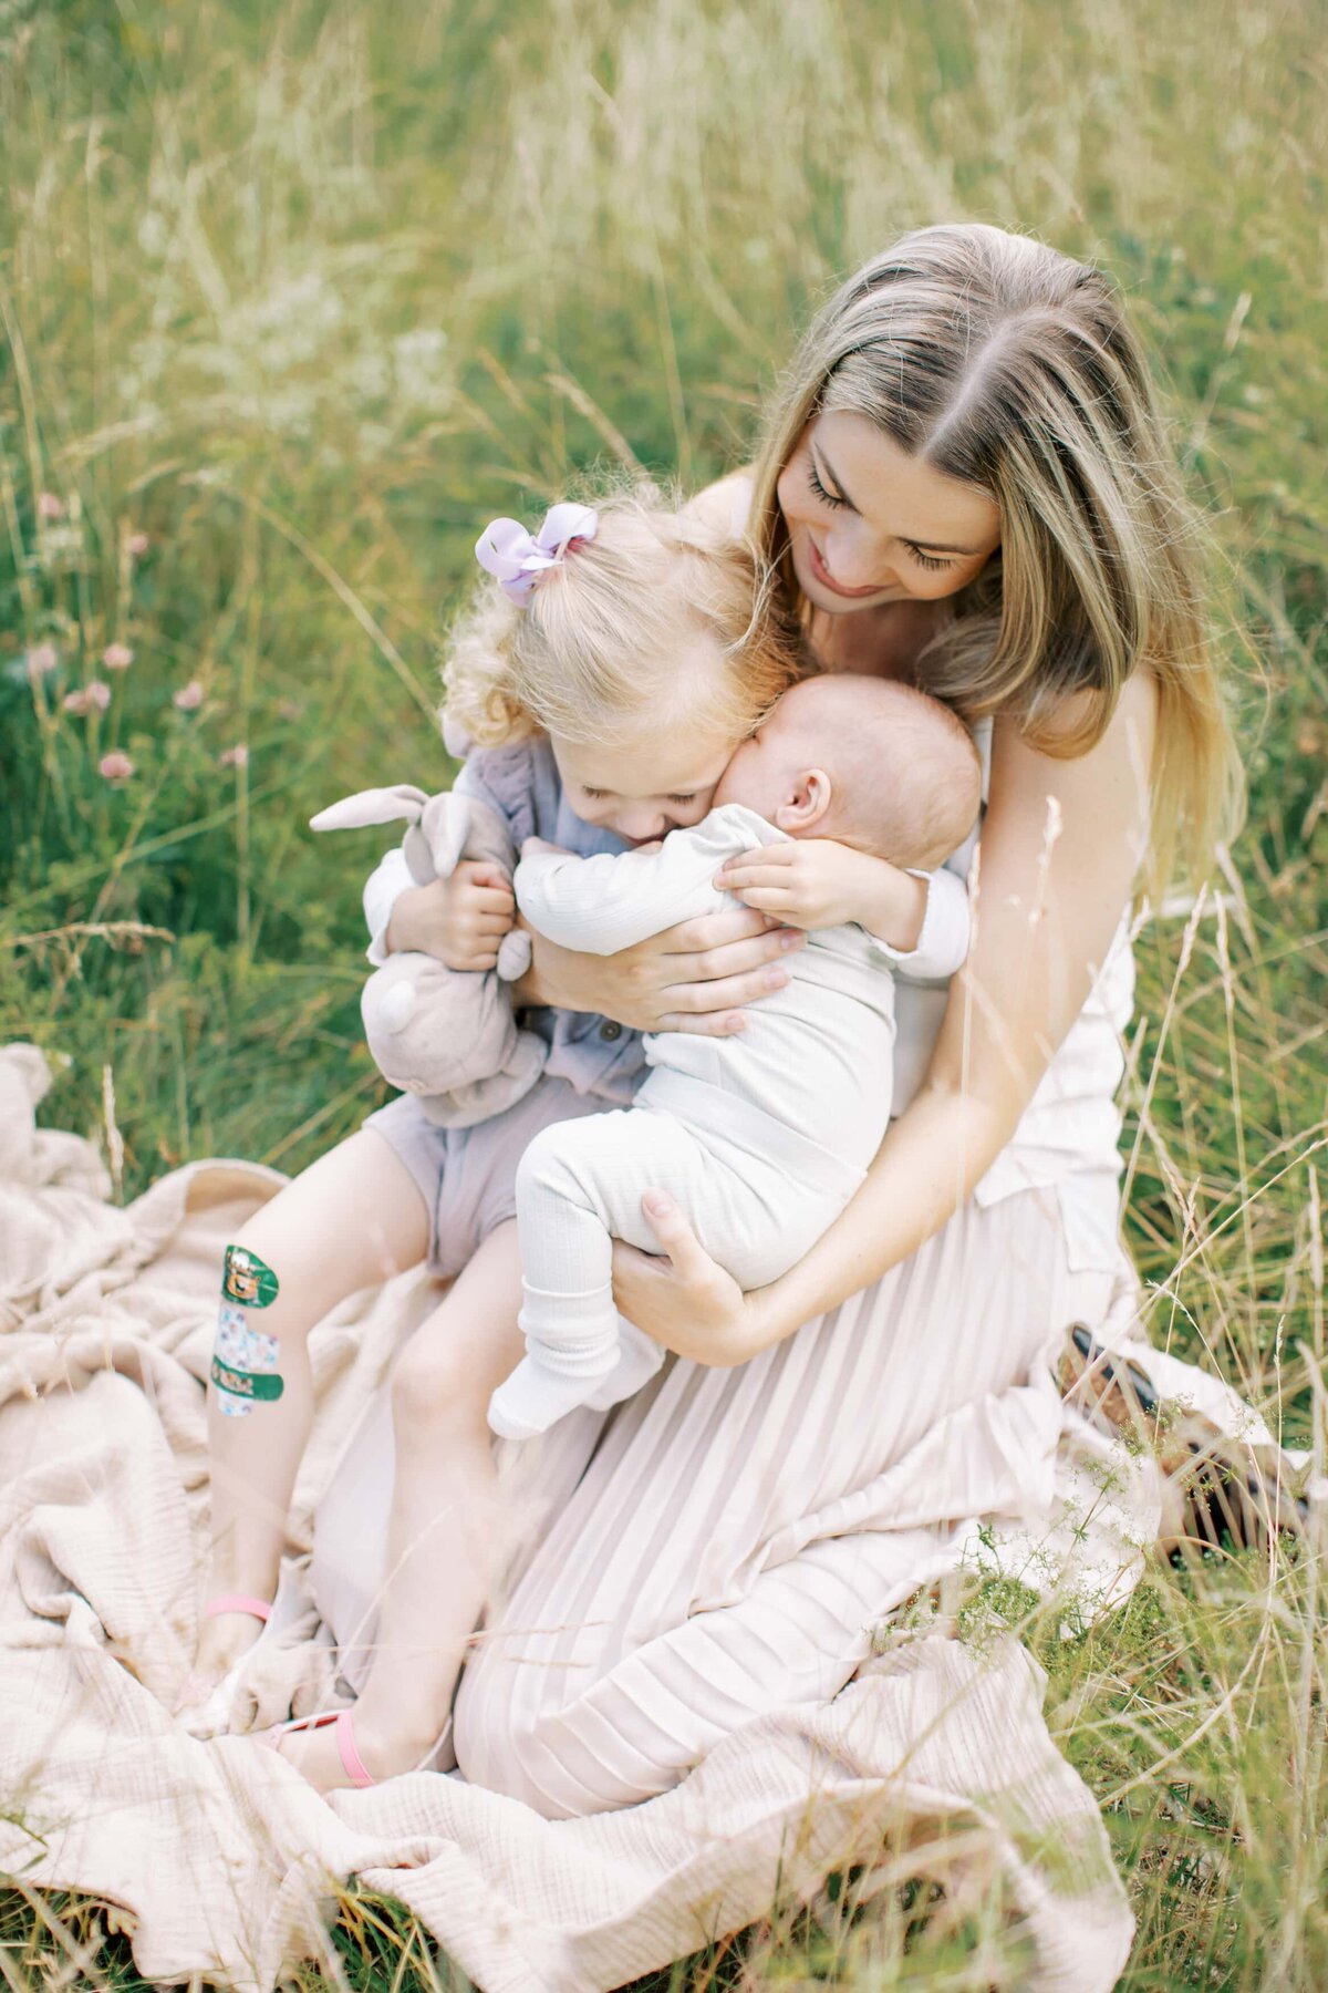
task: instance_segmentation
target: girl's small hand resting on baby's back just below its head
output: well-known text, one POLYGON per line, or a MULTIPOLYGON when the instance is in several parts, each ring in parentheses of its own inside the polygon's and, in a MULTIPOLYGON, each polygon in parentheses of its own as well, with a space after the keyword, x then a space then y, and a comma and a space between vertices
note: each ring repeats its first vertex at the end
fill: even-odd
POLYGON ((902 955, 918 945, 928 901, 926 879, 832 837, 757 845, 729 859, 715 873, 715 885, 788 927, 844 927, 854 921, 902 955))

